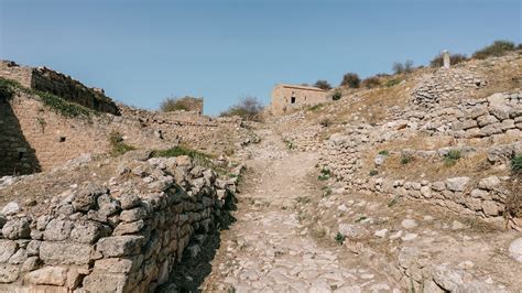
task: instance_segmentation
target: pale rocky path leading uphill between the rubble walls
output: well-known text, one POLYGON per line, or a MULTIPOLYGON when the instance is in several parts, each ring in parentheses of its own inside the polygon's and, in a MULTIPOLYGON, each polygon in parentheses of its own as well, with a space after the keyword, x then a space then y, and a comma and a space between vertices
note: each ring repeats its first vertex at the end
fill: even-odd
POLYGON ((340 246, 319 245, 300 225, 294 205, 320 196, 316 154, 286 150, 281 138, 260 131, 249 149, 248 172, 238 194, 236 223, 221 232, 211 273, 202 289, 229 292, 387 292, 384 275, 340 246))

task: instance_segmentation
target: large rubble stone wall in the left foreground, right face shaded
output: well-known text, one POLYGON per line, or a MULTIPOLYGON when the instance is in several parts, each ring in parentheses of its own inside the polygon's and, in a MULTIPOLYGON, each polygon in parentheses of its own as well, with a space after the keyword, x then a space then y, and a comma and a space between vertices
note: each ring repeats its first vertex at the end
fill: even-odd
POLYGON ((64 192, 41 215, 8 204, 0 291, 154 291, 184 254, 197 257, 241 170, 219 178, 188 156, 128 161, 104 186, 64 192))

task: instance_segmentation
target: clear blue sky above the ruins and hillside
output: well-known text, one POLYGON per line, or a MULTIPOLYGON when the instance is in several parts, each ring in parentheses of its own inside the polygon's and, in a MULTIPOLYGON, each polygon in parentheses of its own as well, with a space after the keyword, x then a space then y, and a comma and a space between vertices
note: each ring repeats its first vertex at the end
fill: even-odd
POLYGON ((119 101, 203 96, 216 115, 278 83, 426 64, 522 42, 521 0, 0 0, 0 58, 45 65, 119 101))

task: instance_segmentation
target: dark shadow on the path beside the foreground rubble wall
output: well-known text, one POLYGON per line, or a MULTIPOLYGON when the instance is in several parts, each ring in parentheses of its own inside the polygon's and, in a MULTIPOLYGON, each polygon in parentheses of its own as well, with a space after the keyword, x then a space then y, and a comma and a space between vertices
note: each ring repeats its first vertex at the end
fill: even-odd
MULTIPOLYGON (((213 231, 207 235, 206 240, 200 246, 202 250, 197 254, 197 258, 192 258, 191 251, 185 249, 182 261, 176 263, 171 272, 170 282, 160 286, 156 292, 200 292, 199 287, 205 281, 205 278, 209 275, 213 270, 210 262, 220 247, 220 234, 222 230, 228 230, 230 225, 236 221, 236 218, 231 215, 235 210, 237 210, 237 198, 230 195, 221 210, 218 227, 214 227, 213 231)), ((197 235, 197 232, 195 235, 197 235)), ((194 241, 194 239, 192 241, 194 241)), ((191 242, 188 247, 191 245, 193 245, 193 242, 191 242)))

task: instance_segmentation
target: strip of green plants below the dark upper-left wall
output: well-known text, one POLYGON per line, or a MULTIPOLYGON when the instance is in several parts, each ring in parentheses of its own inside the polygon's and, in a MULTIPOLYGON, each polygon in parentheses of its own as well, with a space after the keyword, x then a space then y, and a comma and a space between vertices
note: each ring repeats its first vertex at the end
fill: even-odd
POLYGON ((20 85, 19 83, 14 80, 9 80, 4 78, 0 78, 0 97, 2 98, 11 98, 12 95, 14 94, 13 88, 18 88, 21 91, 28 94, 28 95, 35 95, 39 96, 42 102, 54 110, 55 112, 64 116, 64 117, 89 117, 91 113, 96 113, 96 111, 84 107, 81 105, 78 105, 76 102, 70 102, 67 101, 56 95, 32 89, 32 88, 26 88, 20 85))

